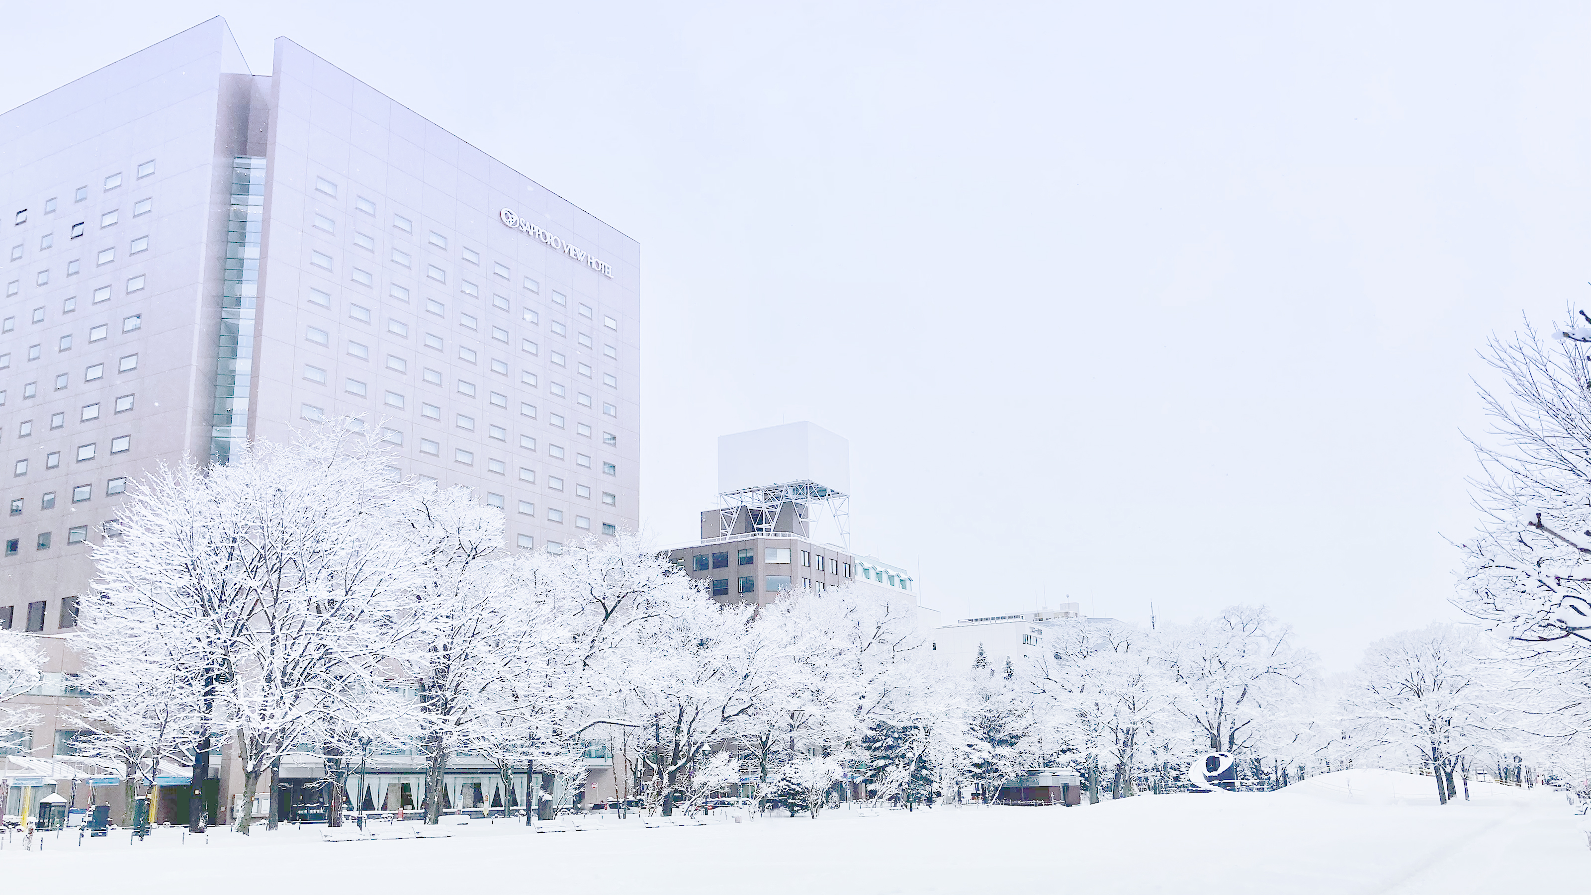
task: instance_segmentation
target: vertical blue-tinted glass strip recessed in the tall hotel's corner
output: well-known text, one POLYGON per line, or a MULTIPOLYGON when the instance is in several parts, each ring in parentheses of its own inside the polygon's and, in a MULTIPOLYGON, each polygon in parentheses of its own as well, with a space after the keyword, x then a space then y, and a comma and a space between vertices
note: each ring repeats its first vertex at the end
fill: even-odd
POLYGON ((259 288, 259 228, 266 205, 266 159, 232 159, 232 207, 226 223, 221 338, 216 347, 210 459, 224 463, 248 440, 248 397, 255 360, 255 298, 259 288))

